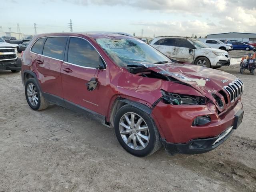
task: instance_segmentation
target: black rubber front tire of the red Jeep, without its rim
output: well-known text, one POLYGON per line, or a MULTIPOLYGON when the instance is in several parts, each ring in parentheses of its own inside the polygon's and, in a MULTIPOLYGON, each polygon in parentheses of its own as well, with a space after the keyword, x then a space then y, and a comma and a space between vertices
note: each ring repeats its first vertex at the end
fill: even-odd
POLYGON ((156 132, 154 130, 154 127, 156 127, 154 124, 154 121, 152 120, 152 118, 150 118, 150 116, 148 114, 146 114, 142 110, 139 110, 138 108, 135 108, 130 105, 125 105, 122 108, 120 108, 118 110, 118 112, 116 113, 116 116, 114 119, 114 129, 115 129, 115 133, 116 133, 116 138, 118 139, 119 143, 127 152, 129 152, 135 156, 138 156, 138 157, 147 156, 154 149, 154 145, 156 143, 156 132), (149 139, 149 142, 148 142, 148 145, 146 146, 146 148, 144 148, 142 150, 134 150, 134 149, 130 148, 129 146, 127 146, 120 134, 120 131, 119 131, 120 118, 125 113, 128 113, 128 112, 134 112, 134 113, 138 114, 139 116, 141 116, 148 126, 150 139, 149 139))

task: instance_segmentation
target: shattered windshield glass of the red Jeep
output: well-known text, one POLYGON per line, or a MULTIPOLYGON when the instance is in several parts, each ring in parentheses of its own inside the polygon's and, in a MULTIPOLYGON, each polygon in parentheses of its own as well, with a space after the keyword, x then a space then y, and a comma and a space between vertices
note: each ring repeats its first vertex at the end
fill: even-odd
POLYGON ((97 38, 96 42, 108 56, 120 67, 142 66, 141 63, 169 63, 172 62, 164 54, 158 52, 141 40, 97 38))

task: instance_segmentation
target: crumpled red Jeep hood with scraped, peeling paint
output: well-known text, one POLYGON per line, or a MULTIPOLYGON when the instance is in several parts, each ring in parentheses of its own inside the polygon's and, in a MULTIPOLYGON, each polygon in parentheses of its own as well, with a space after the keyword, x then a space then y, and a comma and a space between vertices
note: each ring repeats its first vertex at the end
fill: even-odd
POLYGON ((210 69, 192 64, 148 64, 148 69, 189 84, 204 96, 213 100, 212 93, 222 89, 236 79, 236 76, 220 70, 210 69))

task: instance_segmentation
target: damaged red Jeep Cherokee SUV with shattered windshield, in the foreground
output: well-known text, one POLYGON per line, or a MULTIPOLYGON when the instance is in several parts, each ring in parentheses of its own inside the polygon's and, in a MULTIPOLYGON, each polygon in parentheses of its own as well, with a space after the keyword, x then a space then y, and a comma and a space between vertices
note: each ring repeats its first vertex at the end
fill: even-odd
POLYGON ((219 70, 177 63, 114 33, 40 34, 22 53, 28 105, 49 102, 113 126, 135 156, 213 150, 242 122, 244 84, 219 70))

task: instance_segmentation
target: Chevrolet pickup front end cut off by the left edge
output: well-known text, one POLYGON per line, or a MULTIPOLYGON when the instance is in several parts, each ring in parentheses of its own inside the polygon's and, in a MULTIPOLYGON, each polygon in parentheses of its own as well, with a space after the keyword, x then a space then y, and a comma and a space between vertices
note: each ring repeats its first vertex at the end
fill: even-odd
POLYGON ((6 43, 0 37, 0 70, 11 70, 14 73, 21 70, 17 46, 17 44, 6 43))

